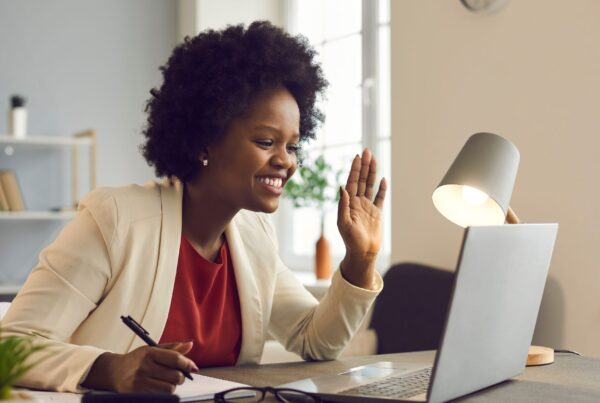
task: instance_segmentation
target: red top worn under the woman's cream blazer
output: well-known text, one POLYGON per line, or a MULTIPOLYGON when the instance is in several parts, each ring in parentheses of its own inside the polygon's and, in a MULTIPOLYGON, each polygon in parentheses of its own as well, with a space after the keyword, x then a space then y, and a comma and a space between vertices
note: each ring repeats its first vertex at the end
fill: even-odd
POLYGON ((199 368, 235 365, 242 343, 240 300, 227 241, 209 262, 181 237, 169 317, 160 343, 194 341, 199 368))

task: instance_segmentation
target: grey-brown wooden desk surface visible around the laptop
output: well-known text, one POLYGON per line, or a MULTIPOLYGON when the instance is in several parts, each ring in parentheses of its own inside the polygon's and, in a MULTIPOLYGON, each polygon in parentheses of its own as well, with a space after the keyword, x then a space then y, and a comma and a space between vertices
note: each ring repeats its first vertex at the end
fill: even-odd
MULTIPOLYGON (((229 379, 253 386, 275 386, 318 374, 331 374, 377 361, 418 362, 429 359, 434 352, 386 354, 350 357, 337 361, 296 362, 210 368, 201 372, 208 376, 229 379)), ((528 367, 520 376, 488 389, 465 396, 465 402, 599 402, 600 359, 572 354, 556 354, 556 362, 540 367, 528 367)))

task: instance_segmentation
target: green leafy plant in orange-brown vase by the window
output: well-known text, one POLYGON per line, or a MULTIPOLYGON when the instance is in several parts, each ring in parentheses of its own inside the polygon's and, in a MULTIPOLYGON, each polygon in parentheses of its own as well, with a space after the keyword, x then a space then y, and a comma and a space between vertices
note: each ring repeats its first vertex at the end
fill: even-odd
POLYGON ((323 156, 311 163, 303 164, 297 174, 285 186, 285 197, 294 207, 313 207, 321 212, 321 235, 317 240, 315 273, 318 279, 331 277, 331 249, 325 238, 325 215, 328 207, 339 200, 339 178, 341 171, 334 172, 323 156), (332 184, 331 182, 334 181, 332 184))

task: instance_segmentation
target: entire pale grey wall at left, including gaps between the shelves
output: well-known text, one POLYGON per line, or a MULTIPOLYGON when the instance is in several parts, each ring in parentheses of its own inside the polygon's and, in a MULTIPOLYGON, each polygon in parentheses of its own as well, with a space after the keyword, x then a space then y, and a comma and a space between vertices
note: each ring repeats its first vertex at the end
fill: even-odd
MULTIPOLYGON (((149 90, 160 85, 158 67, 176 42, 176 11, 163 0, 0 0, 0 134, 7 131, 9 96, 24 94, 29 135, 97 131, 99 186, 152 179, 138 145, 149 90)), ((30 147, 0 155, 0 169, 17 172, 28 208, 71 203, 64 151, 30 147)), ((0 291, 25 280, 65 222, 0 221, 0 291)))

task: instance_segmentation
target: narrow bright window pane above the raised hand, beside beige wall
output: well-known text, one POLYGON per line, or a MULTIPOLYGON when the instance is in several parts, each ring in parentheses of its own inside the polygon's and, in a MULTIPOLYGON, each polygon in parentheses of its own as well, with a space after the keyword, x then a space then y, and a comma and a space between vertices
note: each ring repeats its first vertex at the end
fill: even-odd
POLYGON ((391 75, 390 75, 390 27, 383 26, 379 28, 379 110, 378 125, 379 137, 389 137, 391 134, 391 75))

